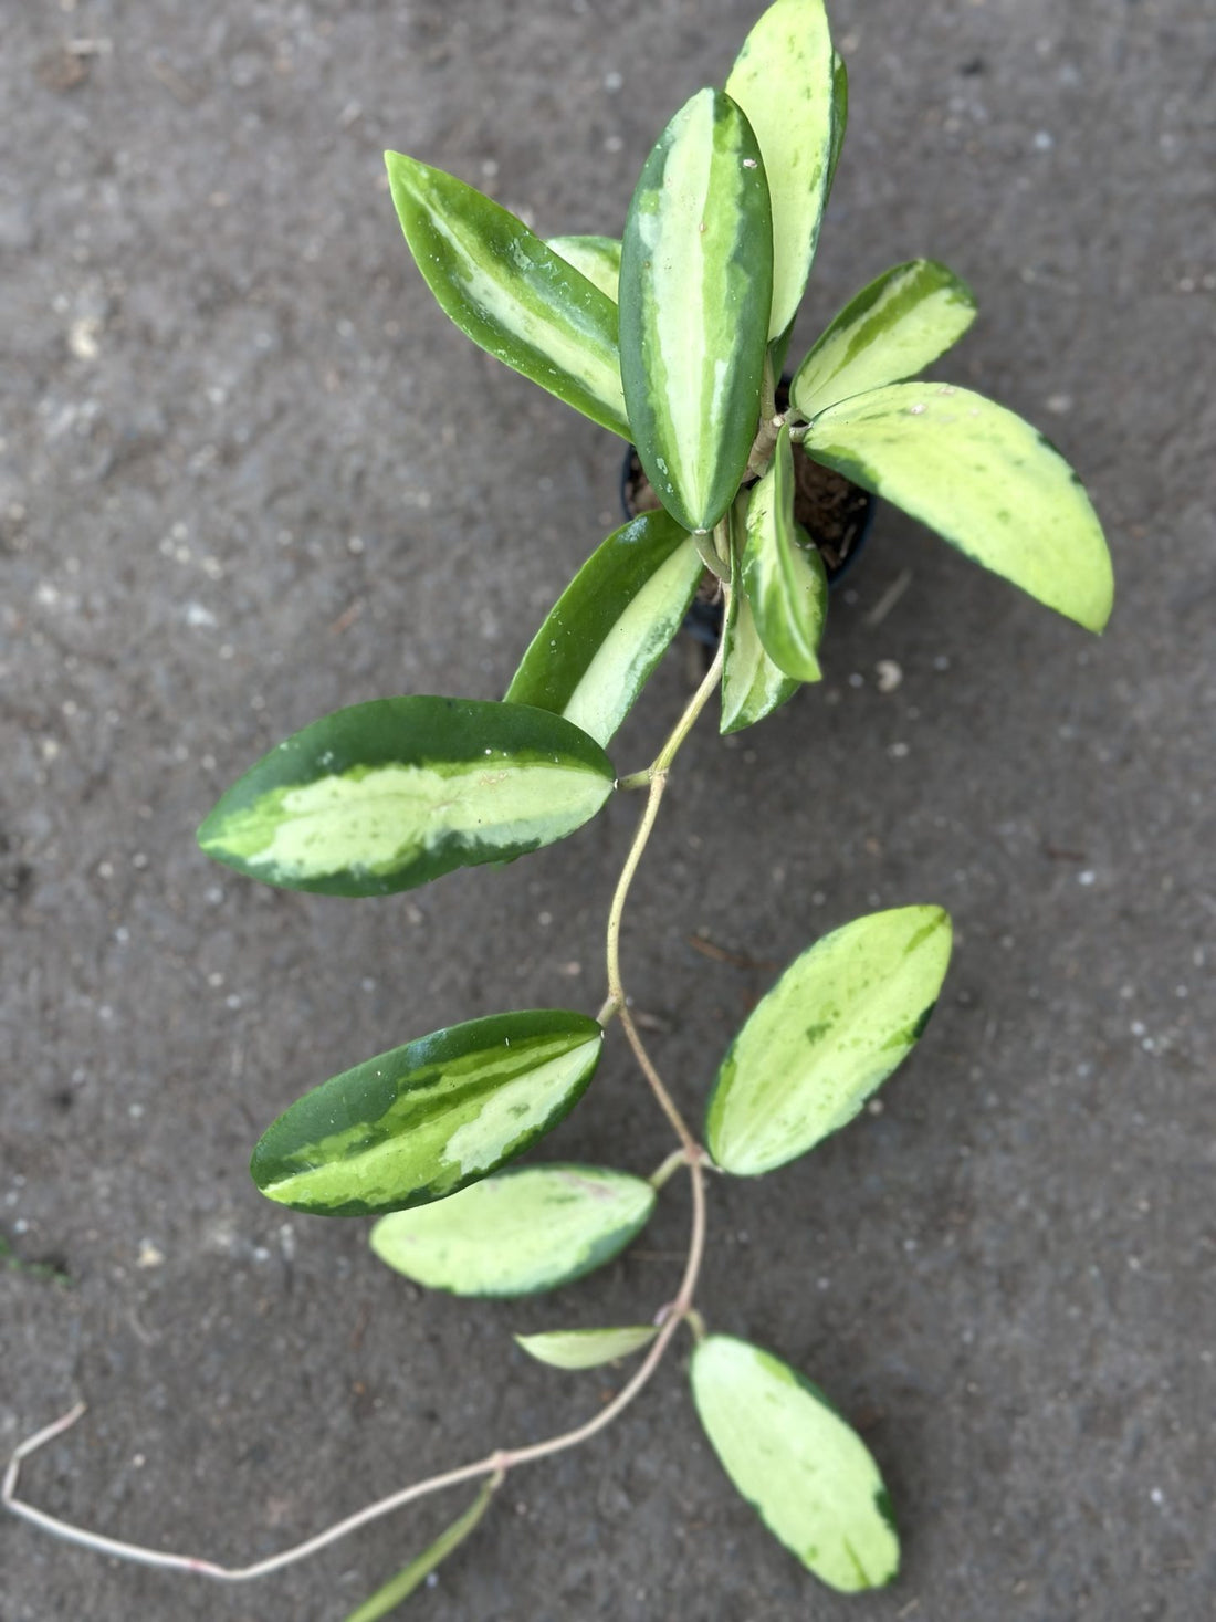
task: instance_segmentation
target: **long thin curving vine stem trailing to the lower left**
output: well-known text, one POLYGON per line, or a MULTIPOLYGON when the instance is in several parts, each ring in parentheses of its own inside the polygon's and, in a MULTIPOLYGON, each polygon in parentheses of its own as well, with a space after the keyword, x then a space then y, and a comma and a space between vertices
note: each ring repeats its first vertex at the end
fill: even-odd
MULTIPOLYGON (((692 1325, 694 1333, 700 1338, 704 1325, 700 1322, 700 1315, 692 1306, 692 1299, 697 1288, 697 1278, 700 1275, 700 1264, 705 1254, 704 1152, 679 1113, 674 1100, 663 1085, 663 1080, 645 1049, 637 1023, 629 1012, 624 983, 621 980, 621 918, 629 895, 629 887, 655 826, 655 817, 658 816, 658 806, 666 788, 668 770, 676 757, 676 753, 679 751, 681 743, 687 738, 697 717, 713 693, 718 675, 721 673, 723 649, 725 642, 718 642, 718 650, 713 655, 709 672, 705 673, 705 680, 689 699, 683 715, 671 728, 666 743, 655 756, 653 766, 650 766, 645 774, 650 783, 645 809, 642 811, 642 819, 637 826, 637 832, 634 834, 632 845, 629 847, 629 855, 626 856, 624 868, 621 869, 621 878, 618 879, 616 892, 613 894, 608 913, 608 1001, 600 1011, 600 1023, 606 1023, 613 1014, 621 1015, 621 1027, 634 1058, 637 1059, 637 1066, 650 1085, 663 1114, 671 1122, 676 1137, 679 1139, 678 1155, 687 1163, 692 1192, 692 1220, 684 1275, 674 1299, 663 1309, 660 1315, 662 1322, 658 1335, 650 1343, 650 1350, 632 1379, 621 1387, 606 1408, 602 1408, 598 1414, 593 1414, 572 1431, 563 1431, 558 1435, 546 1437, 543 1442, 532 1442, 525 1447, 509 1450, 498 1448, 493 1453, 486 1453, 485 1458, 473 1460, 470 1465, 459 1465, 456 1470, 444 1470, 439 1474, 428 1476, 425 1481, 415 1481, 407 1487, 399 1487, 396 1492, 389 1492, 375 1504, 368 1504, 353 1515, 347 1515, 345 1520, 336 1521, 324 1531, 316 1533, 316 1536, 306 1538, 303 1543, 297 1543, 290 1549, 272 1554, 264 1560, 255 1560, 253 1565, 221 1565, 214 1560, 203 1560, 190 1554, 173 1554, 169 1549, 151 1549, 144 1544, 123 1543, 118 1538, 107 1538, 102 1533, 89 1531, 86 1526, 76 1526, 71 1521, 60 1520, 57 1515, 49 1515, 34 1504, 18 1499, 16 1487, 24 1460, 29 1458, 31 1453, 45 1447, 49 1442, 54 1442, 55 1437, 63 1435, 65 1431, 70 1431, 81 1414, 84 1414, 84 1403, 76 1403, 75 1408, 65 1413, 60 1419, 55 1419, 54 1424, 45 1426, 42 1431, 37 1431, 34 1435, 26 1437, 24 1442, 18 1444, 10 1457, 3 1481, 0 1483, 0 1505, 3 1505, 3 1508, 26 1521, 31 1521, 34 1526, 42 1528, 42 1531, 52 1533, 65 1543, 76 1544, 83 1549, 92 1549, 97 1554, 107 1554, 112 1559, 128 1560, 136 1565, 151 1565, 167 1572, 209 1577, 221 1583, 248 1583, 259 1577, 269 1577, 272 1572, 282 1572, 285 1567, 295 1565, 298 1560, 305 1560, 310 1555, 318 1554, 321 1549, 326 1549, 329 1544, 350 1536, 350 1533, 358 1531, 363 1526, 368 1526, 371 1521, 381 1520, 384 1515, 391 1515, 394 1510, 404 1508, 407 1504, 413 1504, 418 1499, 430 1497, 433 1492, 443 1492, 446 1487, 456 1487, 464 1481, 477 1481, 482 1476, 501 1479, 509 1470, 514 1470, 516 1465, 530 1465, 542 1458, 551 1458, 554 1453, 563 1453, 571 1447, 579 1447, 582 1442, 589 1442, 593 1435, 598 1435, 600 1431, 605 1431, 610 1424, 613 1424, 613 1421, 618 1419, 619 1414, 629 1408, 634 1398, 639 1397, 639 1393, 650 1384, 655 1371, 663 1361, 666 1348, 684 1320, 692 1325)), ((642 774, 637 775, 640 777, 642 774)), ((668 1161, 665 1161, 660 1169, 666 1169, 671 1161, 674 1161, 674 1156, 668 1156, 668 1161)), ((671 1169, 674 1169, 674 1165, 671 1169)))

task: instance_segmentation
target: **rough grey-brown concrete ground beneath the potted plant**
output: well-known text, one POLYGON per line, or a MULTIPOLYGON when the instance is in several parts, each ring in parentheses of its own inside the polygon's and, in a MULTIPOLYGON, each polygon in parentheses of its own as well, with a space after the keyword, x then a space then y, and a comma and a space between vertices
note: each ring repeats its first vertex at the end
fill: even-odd
MULTIPOLYGON (((88 1398, 29 1468, 50 1510, 251 1560, 595 1413, 616 1374, 540 1369, 511 1332, 674 1289, 679 1182, 564 1296, 462 1304, 245 1171, 289 1100, 383 1048, 597 1009, 636 803, 507 871, 362 903, 259 890, 193 829, 340 704, 501 693, 614 522, 618 446, 433 307, 381 149, 540 230, 616 232, 756 10, 3 6, 0 1450, 88 1398)), ((833 13, 853 118, 804 336, 898 260, 965 274, 981 318, 944 375, 1060 444, 1119 574, 1098 642, 884 513, 822 688, 686 746, 627 920, 696 1113, 767 963, 877 905, 955 916, 948 993, 882 1113, 715 1182, 702 1288, 712 1325, 864 1431, 905 1568, 853 1601, 806 1577, 700 1439, 681 1345, 610 1434, 511 1479, 409 1612, 436 1622, 1213 1614, 1211 15, 833 13)), ((623 770, 684 684, 673 655, 623 770)), ((649 1171, 666 1147, 614 1036, 542 1156, 649 1171)), ((0 1617, 331 1622, 456 1508, 245 1590, 0 1518, 0 1617)))

